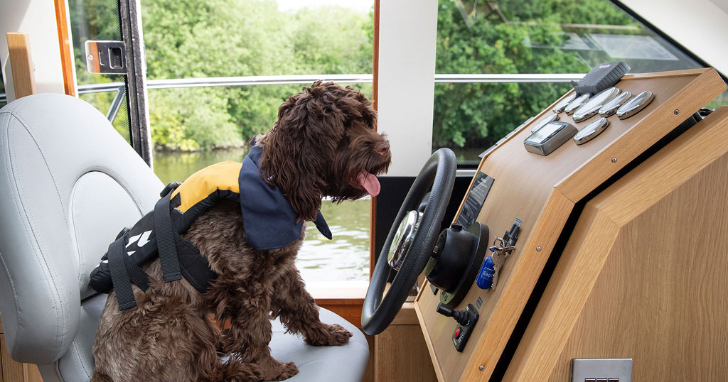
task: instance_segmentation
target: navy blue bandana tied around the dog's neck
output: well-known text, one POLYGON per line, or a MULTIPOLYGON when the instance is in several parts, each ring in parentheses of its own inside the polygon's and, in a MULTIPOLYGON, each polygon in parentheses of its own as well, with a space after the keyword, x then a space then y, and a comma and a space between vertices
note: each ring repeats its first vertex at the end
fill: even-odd
MULTIPOLYGON (((253 145, 242 160, 238 183, 240 210, 245 238, 256 250, 274 250, 295 242, 301 237, 304 222, 296 223, 298 215, 290 207, 277 186, 269 186, 258 167, 263 149, 253 145), (245 196, 244 196, 245 195, 245 196)), ((319 211, 314 220, 316 228, 331 240, 331 229, 319 211)))

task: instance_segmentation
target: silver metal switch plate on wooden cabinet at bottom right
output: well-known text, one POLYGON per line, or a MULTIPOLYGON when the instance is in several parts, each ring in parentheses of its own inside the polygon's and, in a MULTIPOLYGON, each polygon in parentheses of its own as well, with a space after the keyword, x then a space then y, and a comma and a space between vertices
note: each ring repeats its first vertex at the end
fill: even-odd
POLYGON ((574 358, 571 382, 632 382, 631 358, 574 358))

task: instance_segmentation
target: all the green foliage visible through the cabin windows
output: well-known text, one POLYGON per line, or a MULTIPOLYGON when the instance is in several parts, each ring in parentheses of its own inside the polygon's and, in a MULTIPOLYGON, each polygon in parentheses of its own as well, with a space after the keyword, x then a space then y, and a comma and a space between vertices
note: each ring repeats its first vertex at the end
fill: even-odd
MULTIPOLYGON (((79 83, 122 81, 90 75, 82 61, 81 41, 119 39, 116 4, 69 0, 79 83)), ((143 0, 142 11, 149 79, 372 71, 372 11, 281 12, 273 0, 143 0)), ((435 67, 438 73, 584 73, 610 57, 598 49, 579 55, 561 49, 569 33, 641 28, 606 0, 440 0, 435 67)), ((272 127, 280 103, 301 86, 151 89, 152 139, 157 148, 175 151, 241 146, 272 127)), ((432 146, 486 148, 569 88, 436 84, 432 146)), ((371 96, 371 85, 360 89, 371 96)), ((100 110, 112 98, 84 95, 100 110)), ((127 130, 124 120, 115 125, 127 130)))

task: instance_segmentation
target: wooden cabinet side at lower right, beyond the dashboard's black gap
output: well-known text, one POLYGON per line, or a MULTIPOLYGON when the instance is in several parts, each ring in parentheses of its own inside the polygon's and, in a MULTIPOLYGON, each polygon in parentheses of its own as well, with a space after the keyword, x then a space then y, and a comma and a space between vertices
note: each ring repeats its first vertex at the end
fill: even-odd
POLYGON ((728 107, 587 204, 507 370, 567 381, 633 358, 633 381, 728 376, 728 107))

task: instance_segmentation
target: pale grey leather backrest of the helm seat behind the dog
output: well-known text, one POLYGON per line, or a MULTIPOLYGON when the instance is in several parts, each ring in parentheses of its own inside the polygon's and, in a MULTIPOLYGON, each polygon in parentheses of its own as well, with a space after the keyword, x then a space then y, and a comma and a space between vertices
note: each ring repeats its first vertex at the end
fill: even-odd
POLYGON ((91 297, 88 276, 119 230, 154 208, 162 183, 103 114, 66 95, 31 95, 0 109, 0 158, 0 315, 9 354, 61 375, 81 370, 62 378, 87 381, 98 301, 106 299, 91 297), (95 300, 95 313, 82 300, 95 300))

